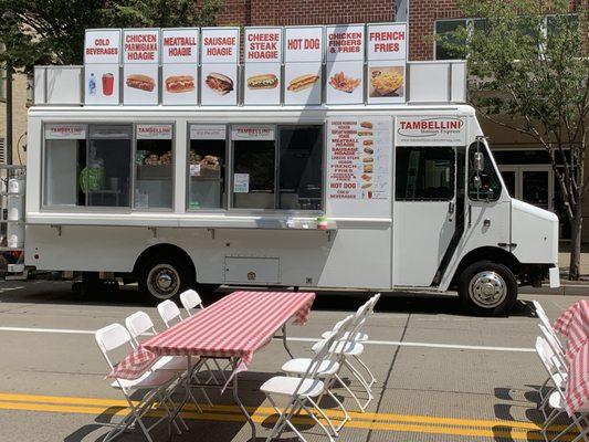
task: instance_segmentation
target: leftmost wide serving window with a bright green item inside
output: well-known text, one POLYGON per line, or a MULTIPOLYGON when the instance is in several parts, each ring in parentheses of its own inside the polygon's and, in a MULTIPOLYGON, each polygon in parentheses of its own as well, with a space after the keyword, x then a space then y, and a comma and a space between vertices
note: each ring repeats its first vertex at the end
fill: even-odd
POLYGON ((132 125, 45 125, 44 206, 130 207, 132 125))

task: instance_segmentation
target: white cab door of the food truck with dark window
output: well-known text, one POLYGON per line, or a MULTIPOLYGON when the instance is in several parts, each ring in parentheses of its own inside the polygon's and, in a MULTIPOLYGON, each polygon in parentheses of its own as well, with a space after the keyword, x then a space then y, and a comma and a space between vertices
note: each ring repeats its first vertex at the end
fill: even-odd
POLYGON ((395 152, 393 286, 428 287, 456 230, 464 147, 397 146, 395 152))

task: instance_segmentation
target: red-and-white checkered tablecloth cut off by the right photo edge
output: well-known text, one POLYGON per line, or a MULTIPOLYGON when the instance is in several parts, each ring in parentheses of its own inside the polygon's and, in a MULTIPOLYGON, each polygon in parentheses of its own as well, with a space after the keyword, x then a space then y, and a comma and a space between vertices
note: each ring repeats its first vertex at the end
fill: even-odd
POLYGON ((589 408, 589 301, 574 304, 558 317, 554 328, 567 338, 565 398, 567 412, 572 415, 589 408))

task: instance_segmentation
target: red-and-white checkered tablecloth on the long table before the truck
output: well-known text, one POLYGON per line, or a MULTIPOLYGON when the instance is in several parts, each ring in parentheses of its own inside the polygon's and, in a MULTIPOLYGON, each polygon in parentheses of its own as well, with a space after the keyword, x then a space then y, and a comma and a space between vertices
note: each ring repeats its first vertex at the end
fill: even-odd
POLYGON ((108 377, 137 379, 158 356, 238 357, 241 371, 288 319, 305 324, 314 301, 314 293, 234 292, 145 341, 108 377))

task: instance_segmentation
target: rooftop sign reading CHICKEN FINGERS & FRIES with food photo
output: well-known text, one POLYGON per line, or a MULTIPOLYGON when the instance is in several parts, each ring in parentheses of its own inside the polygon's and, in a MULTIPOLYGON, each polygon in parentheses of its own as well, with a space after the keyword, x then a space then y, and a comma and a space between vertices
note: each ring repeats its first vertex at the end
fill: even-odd
POLYGON ((327 104, 364 103, 364 24, 327 27, 327 104))

